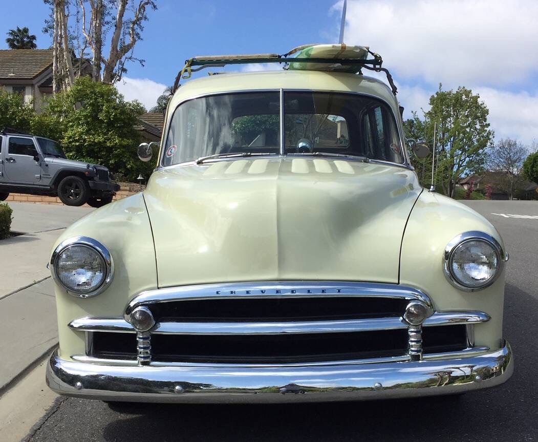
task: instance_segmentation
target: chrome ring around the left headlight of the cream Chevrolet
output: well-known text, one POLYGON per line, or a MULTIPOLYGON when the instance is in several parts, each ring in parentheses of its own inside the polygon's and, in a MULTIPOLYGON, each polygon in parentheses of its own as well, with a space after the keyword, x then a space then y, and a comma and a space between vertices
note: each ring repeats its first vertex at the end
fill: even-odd
POLYGON ((107 289, 107 287, 112 282, 112 278, 114 278, 114 261, 112 260, 112 255, 110 255, 110 252, 108 251, 108 249, 99 241, 94 240, 94 238, 90 238, 88 236, 75 236, 73 238, 68 238, 67 240, 62 241, 54 249, 54 252, 52 253, 52 256, 51 256, 51 274, 55 282, 61 285, 63 289, 65 289, 67 293, 69 293, 70 295, 75 296, 77 298, 91 298, 102 293, 105 289, 107 289), (85 247, 93 249, 101 256, 105 264, 106 273, 101 284, 98 285, 94 290, 90 292, 81 293, 81 292, 74 291, 72 288, 64 285, 56 273, 56 261, 58 257, 61 255, 63 251, 65 251, 69 247, 73 247, 74 245, 83 245, 85 247))

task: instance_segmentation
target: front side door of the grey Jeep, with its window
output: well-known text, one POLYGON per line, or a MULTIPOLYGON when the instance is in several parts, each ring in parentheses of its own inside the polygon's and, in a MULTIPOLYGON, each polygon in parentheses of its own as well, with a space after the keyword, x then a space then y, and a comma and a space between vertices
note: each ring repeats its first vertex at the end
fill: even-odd
POLYGON ((33 184, 41 177, 39 157, 32 138, 9 136, 4 146, 4 174, 12 184, 33 184))

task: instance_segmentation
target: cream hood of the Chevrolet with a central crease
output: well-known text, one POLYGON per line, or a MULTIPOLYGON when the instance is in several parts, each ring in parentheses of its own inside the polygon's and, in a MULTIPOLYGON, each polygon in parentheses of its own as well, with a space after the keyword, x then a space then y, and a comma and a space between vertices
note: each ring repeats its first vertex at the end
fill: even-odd
POLYGON ((221 160, 154 172, 144 192, 159 287, 244 280, 398 283, 422 189, 404 167, 221 160))

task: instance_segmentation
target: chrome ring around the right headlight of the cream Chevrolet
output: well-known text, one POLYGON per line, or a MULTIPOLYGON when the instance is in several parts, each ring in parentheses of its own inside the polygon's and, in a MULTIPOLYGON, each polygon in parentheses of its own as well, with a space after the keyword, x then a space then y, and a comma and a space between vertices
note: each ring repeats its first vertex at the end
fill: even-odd
POLYGON ((458 236, 452 238, 452 240, 447 244, 447 247, 444 249, 443 253, 443 270, 444 275, 447 277, 450 284, 455 286, 459 290, 463 290, 466 292, 475 292, 478 290, 483 290, 486 287, 489 287, 492 285, 497 278, 502 273, 502 268, 504 266, 504 263, 508 261, 508 254, 502 250, 501 245, 495 238, 483 231, 466 231, 462 234, 459 234, 458 236), (454 252, 456 249, 458 249, 461 245, 465 244, 469 241, 482 241, 486 244, 490 245, 490 247, 494 250, 495 254, 497 255, 497 262, 499 263, 497 272, 495 272, 495 275, 487 280, 484 284, 479 286, 469 286, 463 284, 461 281, 459 281, 456 276, 454 275, 454 272, 452 271, 452 256, 454 255, 454 252))

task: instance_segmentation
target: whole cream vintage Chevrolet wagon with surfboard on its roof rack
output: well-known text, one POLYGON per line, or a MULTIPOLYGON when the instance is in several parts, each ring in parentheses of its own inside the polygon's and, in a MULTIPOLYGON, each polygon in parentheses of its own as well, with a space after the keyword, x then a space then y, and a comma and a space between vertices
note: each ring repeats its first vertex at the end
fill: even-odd
POLYGON ((381 58, 344 46, 187 61, 178 80, 224 64, 287 69, 176 87, 146 190, 58 239, 49 387, 105 401, 335 401, 511 376, 499 233, 420 186, 395 88, 361 72, 383 71, 381 58))

